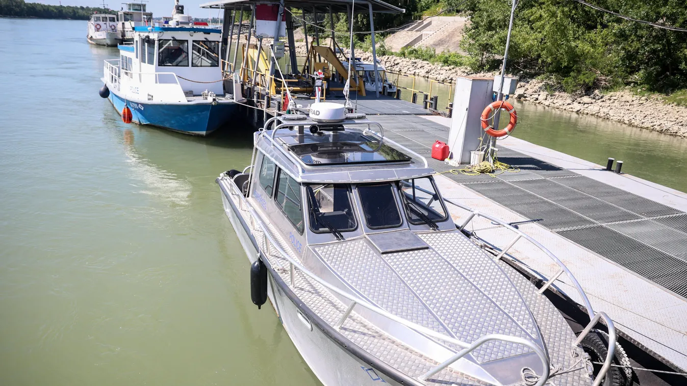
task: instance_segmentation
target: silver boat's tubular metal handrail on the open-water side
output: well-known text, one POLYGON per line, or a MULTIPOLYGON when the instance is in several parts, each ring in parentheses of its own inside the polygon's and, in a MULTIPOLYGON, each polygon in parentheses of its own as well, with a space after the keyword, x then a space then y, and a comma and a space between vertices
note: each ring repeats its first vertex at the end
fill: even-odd
MULTIPOLYGON (((234 184, 233 180, 230 180, 230 183, 234 184)), ((225 188, 222 184, 219 184, 221 189, 227 194, 228 192, 225 191, 225 188)), ((232 190, 233 190, 232 186, 232 190)), ((238 188, 237 188, 238 189, 238 188)), ((326 289, 329 289, 330 291, 333 291, 341 296, 343 298, 347 298, 348 300, 352 301, 352 304, 348 306, 348 309, 346 312, 342 315, 341 319, 339 319, 339 323, 337 324, 337 327, 340 327, 341 324, 343 324, 343 321, 350 315, 352 312, 352 309, 354 306, 357 304, 365 307, 365 309, 368 309, 374 313, 378 313, 379 315, 382 315, 383 317, 387 317, 388 319, 391 319, 394 322, 397 322, 399 324, 402 324, 403 326, 406 326, 407 328, 411 328, 412 330, 417 331, 418 333, 422 333, 424 335, 427 335, 429 337, 433 337, 436 339, 440 339, 442 341, 446 341, 447 343, 453 343, 456 346, 459 346, 463 348, 464 350, 461 350, 457 354, 453 355, 453 357, 447 359, 447 361, 444 361, 440 365, 434 367, 433 369, 429 370, 426 374, 423 374, 420 376, 418 379, 420 381, 425 381, 429 376, 436 374, 437 372, 440 372, 443 370, 445 367, 451 365, 451 363, 458 361, 458 359, 464 357, 466 354, 469 354, 473 350, 479 348, 482 346, 482 344, 486 343, 487 341, 493 341, 493 340, 499 340, 499 341, 506 341, 508 343, 515 343, 515 344, 521 344, 522 346, 526 346, 532 352, 537 354, 537 357, 539 357, 539 360, 541 361, 542 369, 543 369, 543 374, 540 376, 539 380, 537 383, 535 383, 533 386, 543 386, 549 378, 550 374, 550 363, 548 356, 541 350, 539 346, 537 346, 536 343, 529 341, 528 339, 523 339, 520 337, 512 337, 509 335, 503 335, 503 334, 488 334, 484 335, 483 337, 480 337, 476 341, 473 341, 473 343, 466 343, 464 341, 460 341, 458 339, 455 339, 453 337, 449 337, 447 335, 444 335, 442 333, 438 333, 435 330, 432 330, 431 328, 427 328, 424 326, 420 326, 419 324, 415 324, 413 322, 410 322, 407 319, 404 319, 403 317, 398 317, 397 315, 394 315, 388 311, 385 311, 384 309, 379 308, 378 306, 375 306, 374 304, 368 303, 366 300, 363 300, 356 295, 352 295, 346 291, 343 291, 342 289, 339 289, 335 287, 334 285, 330 284, 329 282, 326 282, 326 280, 320 278, 316 274, 313 274, 313 272, 308 271, 306 267, 301 265, 300 262, 296 261, 295 258, 291 257, 290 254, 286 253, 281 246, 273 239, 271 233, 269 230, 267 230, 267 227, 262 224, 262 220, 260 219, 260 216, 256 212, 256 210, 253 208, 252 204, 248 202, 248 200, 243 197, 242 194, 237 193, 239 196, 238 199, 242 200, 244 204, 246 205, 247 209, 249 210, 249 213, 251 214, 251 218, 254 219, 254 221, 251 221, 252 224, 256 224, 258 228, 260 228, 260 231, 265 237, 266 244, 267 242, 271 243, 271 245, 266 245, 268 250, 271 250, 271 248, 274 248, 276 252, 278 252, 282 258, 284 258, 286 261, 289 262, 290 265, 290 270, 291 270, 291 286, 293 287, 295 285, 295 269, 300 270, 303 274, 306 276, 309 276, 313 280, 315 280, 319 285, 322 285, 326 289)), ((251 230, 252 231, 252 230, 251 230)), ((262 256, 262 251, 260 251, 261 256, 262 256)), ((590 328, 591 329, 591 328, 590 328)), ((599 378, 600 380, 601 378, 599 378)), ((596 386, 596 385, 595 385, 596 386)))

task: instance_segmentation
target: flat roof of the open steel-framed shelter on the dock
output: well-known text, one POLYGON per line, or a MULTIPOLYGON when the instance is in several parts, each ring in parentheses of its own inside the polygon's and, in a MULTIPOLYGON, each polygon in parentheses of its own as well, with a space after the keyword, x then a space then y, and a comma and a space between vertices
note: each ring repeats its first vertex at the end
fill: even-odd
MULTIPOLYGON (((241 7, 247 7, 256 4, 271 4, 279 5, 279 0, 216 0, 210 1, 209 3, 201 4, 201 8, 229 8, 238 9, 241 7)), ((357 6, 354 12, 367 14, 370 12, 367 3, 372 4, 372 12, 383 12, 392 14, 401 14, 405 12, 405 9, 398 8, 389 3, 385 3, 381 0, 367 0, 365 3, 361 3, 361 6, 357 6)), ((346 13, 348 12, 348 7, 350 7, 350 0, 284 0, 284 7, 304 9, 308 12, 312 12, 315 8, 318 12, 329 12, 331 7, 332 12, 335 13, 346 13)))

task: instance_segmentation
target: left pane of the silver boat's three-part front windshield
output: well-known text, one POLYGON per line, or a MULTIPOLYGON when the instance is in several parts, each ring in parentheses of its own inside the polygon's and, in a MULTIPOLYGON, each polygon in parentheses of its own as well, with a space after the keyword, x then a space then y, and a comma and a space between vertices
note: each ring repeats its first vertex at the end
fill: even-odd
POLYGON ((348 184, 310 184, 306 186, 313 232, 330 232, 343 239, 341 232, 357 227, 348 196, 348 184))

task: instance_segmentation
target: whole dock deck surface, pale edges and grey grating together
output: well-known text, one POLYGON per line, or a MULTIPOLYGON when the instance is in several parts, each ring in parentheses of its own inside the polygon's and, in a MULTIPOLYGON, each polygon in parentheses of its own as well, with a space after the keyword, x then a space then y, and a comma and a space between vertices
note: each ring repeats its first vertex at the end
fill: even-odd
MULTIPOLYGON (((498 154, 519 171, 451 173, 455 167, 429 158, 434 141, 448 141, 450 119, 369 118, 384 126, 385 136, 428 158, 441 173, 444 197, 509 222, 535 220, 519 228, 570 268, 594 309, 606 311, 629 340, 687 369, 687 194, 517 138, 499 141, 498 154)), ((457 224, 469 215, 450 209, 457 224)), ((472 226, 499 249, 513 239, 488 220, 475 218, 472 226)), ((524 240, 508 254, 537 276, 559 269, 524 240)), ((553 286, 581 303, 567 278, 553 286)))

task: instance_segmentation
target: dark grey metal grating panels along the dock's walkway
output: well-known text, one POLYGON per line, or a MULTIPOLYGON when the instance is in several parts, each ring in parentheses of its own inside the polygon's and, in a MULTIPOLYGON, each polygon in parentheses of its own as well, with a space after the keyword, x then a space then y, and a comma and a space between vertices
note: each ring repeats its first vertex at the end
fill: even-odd
MULTIPOLYGON (((423 156, 429 157, 434 141, 448 141, 448 128, 422 117, 374 120, 392 140, 423 156)), ((443 175, 687 298, 687 213, 507 147, 499 148, 499 160, 520 171, 443 175)), ((429 165, 440 173, 453 169, 431 158, 429 165)))

